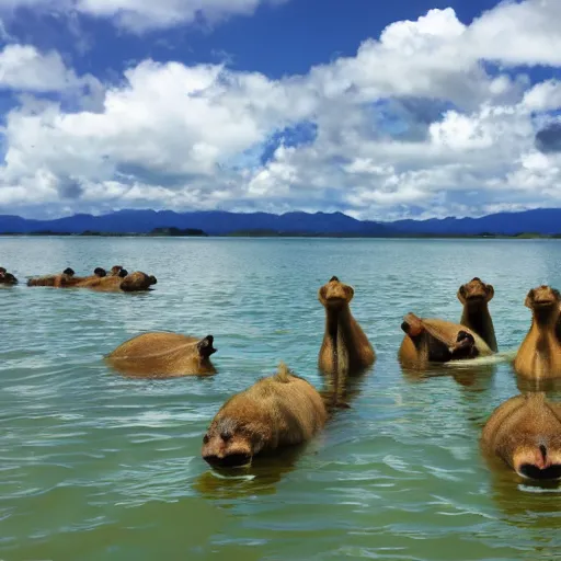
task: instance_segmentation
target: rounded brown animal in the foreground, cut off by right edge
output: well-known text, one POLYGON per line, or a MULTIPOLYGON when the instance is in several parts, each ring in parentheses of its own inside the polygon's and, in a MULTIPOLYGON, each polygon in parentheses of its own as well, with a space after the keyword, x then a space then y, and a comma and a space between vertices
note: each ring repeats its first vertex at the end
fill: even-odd
POLYGON ((480 444, 523 478, 560 479, 561 405, 542 392, 511 398, 494 410, 480 444))

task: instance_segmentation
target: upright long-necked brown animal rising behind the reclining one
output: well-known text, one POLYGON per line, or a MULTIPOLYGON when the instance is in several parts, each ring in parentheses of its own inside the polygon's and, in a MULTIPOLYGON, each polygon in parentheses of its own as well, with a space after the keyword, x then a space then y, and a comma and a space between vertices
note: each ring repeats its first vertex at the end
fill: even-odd
POLYGON ((458 300, 463 306, 460 323, 471 331, 474 331, 496 353, 495 328, 489 302, 493 299, 495 289, 493 285, 485 284, 481 278, 474 277, 469 283, 461 285, 458 289, 458 300))

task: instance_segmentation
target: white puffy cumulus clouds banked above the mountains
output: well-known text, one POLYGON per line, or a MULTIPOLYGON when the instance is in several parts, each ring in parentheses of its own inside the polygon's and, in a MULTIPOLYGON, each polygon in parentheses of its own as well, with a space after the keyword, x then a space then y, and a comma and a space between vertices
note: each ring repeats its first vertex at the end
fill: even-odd
MULTIPOLYGON (((112 16, 121 4, 72 5, 112 16)), ((170 22, 195 3, 126 5, 170 22)), ((222 2, 211 5, 218 13, 222 2)), ((356 56, 278 80, 148 59, 95 88, 56 53, 11 45, 0 84, 27 95, 5 117, 0 208, 342 209, 385 219, 559 204, 561 87, 533 84, 520 70, 561 66, 559 5, 500 4, 470 25, 450 8, 431 10, 392 23, 356 56), (72 110, 38 99, 70 90, 82 99, 72 110)))

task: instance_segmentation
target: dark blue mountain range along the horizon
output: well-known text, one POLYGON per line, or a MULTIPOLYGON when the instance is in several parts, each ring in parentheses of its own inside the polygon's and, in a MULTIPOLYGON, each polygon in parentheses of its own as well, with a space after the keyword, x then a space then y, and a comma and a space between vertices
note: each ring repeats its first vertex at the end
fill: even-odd
POLYGON ((53 220, 0 215, 0 233, 149 233, 157 228, 201 229, 209 236, 256 231, 314 236, 515 236, 523 232, 561 233, 561 208, 499 213, 480 218, 367 221, 343 213, 227 213, 173 210, 118 210, 101 216, 78 214, 53 220))

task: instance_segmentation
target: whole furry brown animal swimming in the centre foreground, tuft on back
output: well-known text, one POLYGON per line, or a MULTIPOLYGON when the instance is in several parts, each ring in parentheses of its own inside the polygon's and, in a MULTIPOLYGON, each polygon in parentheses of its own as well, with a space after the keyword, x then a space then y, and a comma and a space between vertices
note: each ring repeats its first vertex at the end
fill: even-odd
POLYGON ((327 420, 316 388, 280 363, 277 374, 220 408, 203 438, 203 459, 216 467, 247 466, 257 454, 309 440, 327 420))

